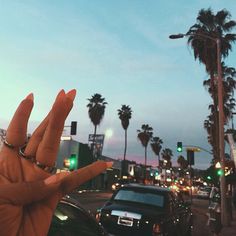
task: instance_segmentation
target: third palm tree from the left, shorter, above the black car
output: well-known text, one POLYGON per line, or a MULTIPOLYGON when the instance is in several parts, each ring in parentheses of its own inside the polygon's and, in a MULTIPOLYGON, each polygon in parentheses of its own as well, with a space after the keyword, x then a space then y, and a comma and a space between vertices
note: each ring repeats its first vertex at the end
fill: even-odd
POLYGON ((147 146, 148 143, 152 137, 153 134, 153 128, 150 127, 148 124, 143 124, 141 126, 141 130, 137 130, 138 132, 138 139, 140 140, 142 146, 144 147, 145 150, 145 161, 144 161, 144 166, 145 166, 145 178, 147 178, 147 146))

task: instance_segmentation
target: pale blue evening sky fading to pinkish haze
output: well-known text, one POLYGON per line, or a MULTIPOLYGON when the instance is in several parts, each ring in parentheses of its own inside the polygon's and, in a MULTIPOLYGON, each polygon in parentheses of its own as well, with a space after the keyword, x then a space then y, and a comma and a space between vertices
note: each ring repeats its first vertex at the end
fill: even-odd
MULTIPOLYGON (((203 128, 211 104, 202 85, 208 76, 186 38, 169 39, 186 33, 199 10, 209 7, 214 13, 227 9, 236 20, 235 0, 0 0, 0 128, 7 128, 20 101, 33 92, 32 133, 57 93, 75 88, 65 125, 78 122, 73 138, 79 142, 87 143, 94 131, 87 99, 99 93, 108 103, 98 133, 113 135, 105 136, 103 155, 123 158, 124 130, 117 115, 122 104, 133 111, 127 159, 144 163, 137 139, 142 124, 173 151, 174 165, 178 141, 210 151, 203 128)), ((235 49, 226 60, 231 67, 236 67, 235 49)), ((208 152, 195 153, 194 167, 206 169, 211 159, 208 152)), ((157 165, 150 146, 147 160, 157 165)))

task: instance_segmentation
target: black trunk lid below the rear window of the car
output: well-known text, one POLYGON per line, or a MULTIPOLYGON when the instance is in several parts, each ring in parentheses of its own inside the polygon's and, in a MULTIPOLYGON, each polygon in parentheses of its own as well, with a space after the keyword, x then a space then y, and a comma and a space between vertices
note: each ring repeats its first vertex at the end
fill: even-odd
POLYGON ((166 213, 163 209, 159 209, 157 207, 153 206, 147 206, 142 204, 129 204, 129 203, 119 203, 119 202, 113 202, 108 203, 102 208, 102 211, 112 213, 112 211, 121 211, 121 212, 128 212, 128 213, 135 213, 139 214, 143 217, 148 218, 162 218, 163 215, 166 213))

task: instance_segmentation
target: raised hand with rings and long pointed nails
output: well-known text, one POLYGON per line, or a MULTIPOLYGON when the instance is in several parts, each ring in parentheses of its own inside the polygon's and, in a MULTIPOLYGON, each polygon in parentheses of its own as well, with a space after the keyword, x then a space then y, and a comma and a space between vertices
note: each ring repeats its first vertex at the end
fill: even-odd
POLYGON ((98 161, 73 172, 51 175, 37 165, 54 165, 64 122, 75 95, 75 90, 59 92, 51 111, 34 131, 25 149, 21 147, 27 141, 33 94, 28 95, 17 108, 0 152, 2 236, 47 235, 54 209, 61 197, 111 167, 110 162, 98 161))

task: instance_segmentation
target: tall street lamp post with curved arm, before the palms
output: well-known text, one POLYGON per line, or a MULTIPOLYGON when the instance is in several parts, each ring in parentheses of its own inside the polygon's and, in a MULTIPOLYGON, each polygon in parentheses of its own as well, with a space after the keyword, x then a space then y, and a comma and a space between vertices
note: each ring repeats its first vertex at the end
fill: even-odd
POLYGON ((186 36, 199 36, 199 38, 208 38, 216 43, 217 47, 217 93, 218 93, 218 114, 219 114, 219 154, 222 169, 222 176, 220 179, 221 190, 221 222, 223 225, 228 225, 228 217, 226 213, 226 182, 225 182, 225 158, 224 158, 224 111, 223 111, 223 86, 222 86, 222 67, 221 67, 221 41, 219 38, 213 38, 205 34, 172 34, 170 39, 179 39, 186 36))

